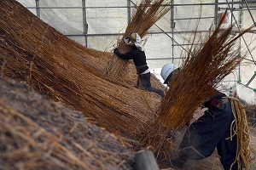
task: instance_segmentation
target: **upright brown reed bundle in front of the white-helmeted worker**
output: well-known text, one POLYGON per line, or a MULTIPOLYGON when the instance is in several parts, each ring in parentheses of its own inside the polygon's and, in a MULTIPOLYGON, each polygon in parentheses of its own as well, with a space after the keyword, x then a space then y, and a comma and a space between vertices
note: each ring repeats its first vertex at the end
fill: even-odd
POLYGON ((190 122, 195 111, 218 94, 219 82, 246 56, 233 47, 236 40, 254 26, 234 36, 230 34, 233 26, 222 29, 221 23, 204 43, 199 43, 202 45, 190 48, 180 71, 172 78, 172 86, 162 100, 157 116, 148 121, 145 132, 139 137, 144 147, 152 146, 159 161, 169 159, 173 150, 173 139, 168 133, 190 122))

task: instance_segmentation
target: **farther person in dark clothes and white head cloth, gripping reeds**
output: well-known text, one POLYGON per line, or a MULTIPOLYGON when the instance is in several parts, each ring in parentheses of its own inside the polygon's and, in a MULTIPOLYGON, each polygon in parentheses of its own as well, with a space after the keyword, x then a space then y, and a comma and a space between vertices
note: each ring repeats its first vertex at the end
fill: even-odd
POLYGON ((124 42, 131 46, 131 50, 128 53, 121 54, 118 48, 113 50, 113 53, 117 54, 120 59, 133 59, 133 62, 137 69, 138 81, 137 85, 143 87, 149 92, 159 94, 162 98, 165 97, 164 91, 151 87, 150 71, 146 62, 146 54, 142 43, 142 38, 137 33, 131 33, 124 38, 124 42))

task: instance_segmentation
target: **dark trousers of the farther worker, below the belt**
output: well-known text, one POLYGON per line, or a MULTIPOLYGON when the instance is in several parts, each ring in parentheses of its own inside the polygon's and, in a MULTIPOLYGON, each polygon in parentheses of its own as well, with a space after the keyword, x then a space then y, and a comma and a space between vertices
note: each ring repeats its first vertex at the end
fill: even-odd
POLYGON ((152 88, 151 87, 150 77, 151 77, 150 72, 148 72, 146 74, 138 75, 137 85, 142 86, 143 88, 145 88, 149 92, 154 92, 156 94, 159 94, 162 98, 164 98, 165 93, 162 90, 160 90, 158 88, 152 88))

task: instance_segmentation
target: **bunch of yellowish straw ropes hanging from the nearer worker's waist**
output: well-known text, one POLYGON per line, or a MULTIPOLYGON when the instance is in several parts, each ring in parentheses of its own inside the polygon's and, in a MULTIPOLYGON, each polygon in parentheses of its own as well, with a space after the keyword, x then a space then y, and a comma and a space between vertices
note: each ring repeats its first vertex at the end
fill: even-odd
MULTIPOLYGON (((246 108, 241 104, 239 99, 231 98, 232 111, 235 116, 235 120, 230 127, 231 136, 230 139, 237 138, 236 148, 236 161, 238 169, 253 169, 253 159, 256 155, 256 150, 251 146, 251 138, 249 133, 249 127, 247 123, 246 108)), ((235 162, 233 164, 235 164, 235 162)), ((233 165, 232 164, 232 165, 233 165)))

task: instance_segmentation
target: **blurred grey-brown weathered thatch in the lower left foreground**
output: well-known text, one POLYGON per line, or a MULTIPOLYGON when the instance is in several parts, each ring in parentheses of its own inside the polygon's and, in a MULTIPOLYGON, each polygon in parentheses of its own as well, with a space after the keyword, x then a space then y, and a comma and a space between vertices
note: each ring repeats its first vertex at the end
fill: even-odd
POLYGON ((134 154, 84 114, 0 77, 0 169, 134 169, 134 154))

